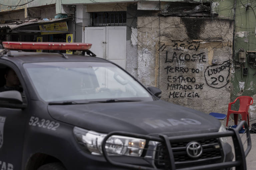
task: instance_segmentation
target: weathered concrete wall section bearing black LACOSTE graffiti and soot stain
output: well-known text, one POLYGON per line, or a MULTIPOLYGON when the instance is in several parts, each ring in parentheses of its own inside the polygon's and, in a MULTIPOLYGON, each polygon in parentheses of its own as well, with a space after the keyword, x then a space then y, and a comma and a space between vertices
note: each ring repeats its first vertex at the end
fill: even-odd
POLYGON ((205 113, 226 113, 232 31, 231 20, 138 17, 139 80, 159 87, 163 100, 205 113))

